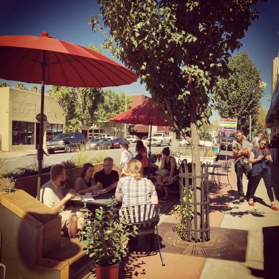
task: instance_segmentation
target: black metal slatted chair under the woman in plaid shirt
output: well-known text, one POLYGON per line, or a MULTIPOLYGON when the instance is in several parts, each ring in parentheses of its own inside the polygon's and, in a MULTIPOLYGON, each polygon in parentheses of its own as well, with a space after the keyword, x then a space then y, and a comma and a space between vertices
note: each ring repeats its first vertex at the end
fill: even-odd
POLYGON ((128 220, 131 225, 136 225, 138 236, 147 236, 147 256, 150 255, 150 236, 157 232, 157 240, 159 245, 159 254, 162 261, 162 266, 165 266, 161 254, 161 247, 159 242, 158 223, 159 223, 159 205, 155 204, 140 204, 134 206, 127 206, 121 209, 122 218, 128 220))

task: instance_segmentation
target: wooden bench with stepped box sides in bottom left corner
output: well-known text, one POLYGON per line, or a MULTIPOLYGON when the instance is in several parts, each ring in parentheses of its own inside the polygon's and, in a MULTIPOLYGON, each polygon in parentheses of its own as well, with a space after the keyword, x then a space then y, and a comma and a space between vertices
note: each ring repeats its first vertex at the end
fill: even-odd
POLYGON ((82 278, 93 269, 83 245, 61 237, 61 216, 25 191, 0 193, 0 230, 7 278, 82 278))

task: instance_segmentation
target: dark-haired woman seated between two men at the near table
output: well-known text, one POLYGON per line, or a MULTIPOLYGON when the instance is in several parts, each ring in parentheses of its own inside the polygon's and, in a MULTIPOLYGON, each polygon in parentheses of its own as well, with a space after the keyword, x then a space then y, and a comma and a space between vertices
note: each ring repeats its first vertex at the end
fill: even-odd
POLYGON ((85 163, 82 167, 80 177, 75 182, 75 192, 78 194, 90 193, 102 189, 102 184, 96 184, 93 178, 94 166, 91 163, 85 163))

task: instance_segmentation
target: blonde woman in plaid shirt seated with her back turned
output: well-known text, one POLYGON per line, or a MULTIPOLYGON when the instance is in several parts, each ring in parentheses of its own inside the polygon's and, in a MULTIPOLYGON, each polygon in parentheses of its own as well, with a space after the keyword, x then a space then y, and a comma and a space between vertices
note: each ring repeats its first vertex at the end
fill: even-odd
MULTIPOLYGON (((115 197, 118 201, 122 201, 121 207, 134 206, 140 204, 158 204, 158 197, 155 187, 151 180, 142 176, 142 164, 139 160, 131 159, 127 164, 130 176, 120 178, 115 197)), ((143 217, 144 212, 135 212, 136 220, 138 215, 143 217)), ((120 211, 120 216, 122 212, 120 211)), ((146 216, 147 217, 147 216, 146 216)), ((138 239, 129 240, 129 249, 133 249, 137 245, 138 239)), ((154 249, 154 234, 150 238, 150 249, 154 249)))

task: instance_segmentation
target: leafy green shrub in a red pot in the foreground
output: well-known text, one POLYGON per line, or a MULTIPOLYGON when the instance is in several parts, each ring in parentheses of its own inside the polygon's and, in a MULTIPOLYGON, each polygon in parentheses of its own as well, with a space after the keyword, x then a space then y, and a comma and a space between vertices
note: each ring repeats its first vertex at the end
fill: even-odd
POLYGON ((119 262, 127 254, 127 240, 137 234, 136 226, 128 226, 116 213, 115 199, 107 207, 100 206, 94 213, 85 206, 81 209, 85 221, 79 241, 93 259, 96 278, 118 279, 119 262))

